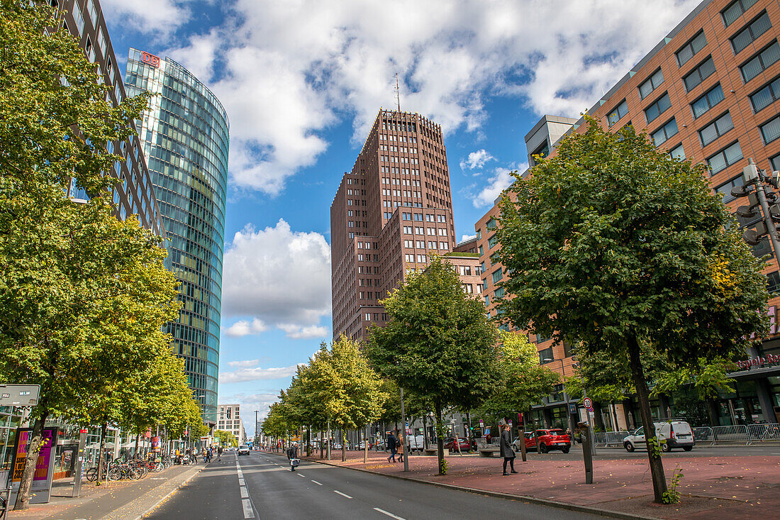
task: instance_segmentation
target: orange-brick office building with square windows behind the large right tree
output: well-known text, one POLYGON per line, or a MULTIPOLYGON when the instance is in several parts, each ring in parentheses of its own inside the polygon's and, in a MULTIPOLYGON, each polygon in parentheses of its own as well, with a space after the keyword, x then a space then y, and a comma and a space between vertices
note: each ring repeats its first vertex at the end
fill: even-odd
MULTIPOLYGON (((659 149, 674 157, 706 162, 713 190, 736 209, 731 188, 741 184, 747 158, 763 169, 780 169, 780 2, 778 0, 704 0, 697 8, 622 77, 588 112, 605 128, 618 130, 631 124, 645 131, 659 149)), ((526 137, 529 155, 544 152, 536 135, 547 136, 546 148, 568 131, 577 131, 583 120, 545 116, 526 137), (534 141, 534 139, 538 140, 534 141)), ((533 160, 530 161, 533 165, 533 160)), ((496 296, 494 283, 505 273, 490 261, 498 244, 491 240, 494 206, 475 229, 482 248, 486 295, 496 296)), ((750 226, 750 222, 743 225, 750 226)), ((757 256, 771 253, 768 243, 753 248, 757 256)), ((780 273, 774 260, 764 270, 772 294, 768 313, 775 321, 780 303, 780 273)), ((494 304, 488 308, 495 314, 494 304)), ((551 369, 569 372, 571 360, 566 347, 537 338, 540 358, 554 361, 551 369), (550 355, 551 354, 551 355, 550 355)), ((768 340, 750 358, 771 359, 780 353, 780 336, 775 326, 768 340)), ((763 362, 758 368, 732 374, 736 392, 718 400, 722 424, 764 420, 777 422, 780 413, 780 366, 763 362)), ((655 416, 665 415, 674 404, 661 399, 655 416)), ((562 411, 562 402, 545 404, 539 419, 554 419, 552 411, 562 411)), ((630 408, 630 404, 629 407, 630 408)), ((612 411, 618 426, 631 426, 629 410, 612 411)), ((565 413, 565 412, 564 412, 565 413)), ((598 420, 598 418, 597 418, 598 420)), ((612 422, 607 420, 605 422, 612 422)))

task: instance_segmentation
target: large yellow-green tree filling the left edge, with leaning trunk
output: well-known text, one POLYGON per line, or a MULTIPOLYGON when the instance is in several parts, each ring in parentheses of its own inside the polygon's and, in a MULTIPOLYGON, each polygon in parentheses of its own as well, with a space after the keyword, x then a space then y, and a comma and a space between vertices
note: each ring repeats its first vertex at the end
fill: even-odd
POLYGON ((145 333, 178 305, 159 238, 112 216, 108 173, 123 159, 107 145, 133 133, 148 97, 106 102, 58 27, 38 2, 0 3, 0 374, 41 385, 15 509, 29 504, 46 418, 82 414, 97 379, 150 362, 159 337, 145 333), (86 205, 66 198, 71 180, 86 205))

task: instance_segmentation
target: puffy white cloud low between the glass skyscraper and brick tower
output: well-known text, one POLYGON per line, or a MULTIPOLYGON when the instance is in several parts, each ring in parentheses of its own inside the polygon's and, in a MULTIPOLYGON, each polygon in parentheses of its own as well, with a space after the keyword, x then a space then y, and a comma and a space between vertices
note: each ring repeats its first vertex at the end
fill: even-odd
POLYGON ((226 249, 223 315, 251 316, 300 337, 321 332, 311 327, 331 312, 331 249, 320 233, 293 232, 280 219, 264 230, 247 225, 226 249))

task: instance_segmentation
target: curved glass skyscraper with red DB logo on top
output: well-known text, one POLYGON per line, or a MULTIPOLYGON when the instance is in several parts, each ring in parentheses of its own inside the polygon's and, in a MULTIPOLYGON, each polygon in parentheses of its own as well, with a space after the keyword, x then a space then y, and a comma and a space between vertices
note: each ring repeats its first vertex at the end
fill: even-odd
POLYGON ((181 281, 182 310, 168 332, 186 361, 204 421, 216 425, 228 116, 179 63, 135 48, 127 59, 125 89, 129 96, 157 94, 139 137, 165 226, 169 267, 181 281))

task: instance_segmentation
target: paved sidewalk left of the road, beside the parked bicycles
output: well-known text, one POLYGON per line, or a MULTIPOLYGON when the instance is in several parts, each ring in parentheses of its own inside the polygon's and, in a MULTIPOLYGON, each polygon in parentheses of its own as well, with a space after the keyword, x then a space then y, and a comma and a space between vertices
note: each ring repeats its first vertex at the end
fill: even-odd
MULTIPOLYGON (((81 496, 71 497, 73 481, 56 483, 48 504, 31 504, 27 511, 9 511, 11 520, 136 520, 179 489, 206 466, 172 466, 140 480, 119 480, 95 486, 84 482, 81 496)), ((13 507, 13 504, 11 504, 13 507)))

